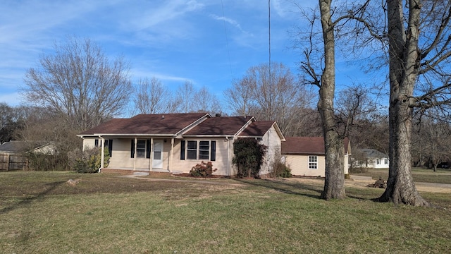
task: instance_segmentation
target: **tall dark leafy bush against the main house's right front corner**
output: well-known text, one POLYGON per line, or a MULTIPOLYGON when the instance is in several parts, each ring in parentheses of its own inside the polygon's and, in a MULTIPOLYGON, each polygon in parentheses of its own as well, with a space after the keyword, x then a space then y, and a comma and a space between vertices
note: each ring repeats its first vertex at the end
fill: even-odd
POLYGON ((237 177, 259 176, 261 164, 266 154, 266 145, 254 138, 239 138, 233 143, 233 164, 237 166, 237 177))

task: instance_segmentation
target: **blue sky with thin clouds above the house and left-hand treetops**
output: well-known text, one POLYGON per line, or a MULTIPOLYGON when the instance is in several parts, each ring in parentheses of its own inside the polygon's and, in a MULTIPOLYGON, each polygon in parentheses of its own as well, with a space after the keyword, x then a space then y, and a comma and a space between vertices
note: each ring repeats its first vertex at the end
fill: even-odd
MULTIPOLYGON (((302 20, 291 2, 271 1, 271 61, 297 73, 288 30, 302 20)), ((111 58, 125 56, 132 80, 155 76, 171 89, 190 80, 220 99, 247 68, 268 62, 264 0, 6 0, 0 9, 0 102, 11 106, 20 104, 27 68, 67 36, 88 37, 111 58)))

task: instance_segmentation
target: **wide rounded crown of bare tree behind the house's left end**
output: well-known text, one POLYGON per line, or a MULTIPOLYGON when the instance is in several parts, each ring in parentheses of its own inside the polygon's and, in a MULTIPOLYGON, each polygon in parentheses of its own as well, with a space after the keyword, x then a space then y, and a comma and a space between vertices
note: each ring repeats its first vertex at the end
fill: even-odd
POLYGON ((70 37, 27 71, 23 97, 50 109, 70 128, 85 131, 120 114, 128 104, 128 70, 122 57, 110 61, 91 40, 70 37))

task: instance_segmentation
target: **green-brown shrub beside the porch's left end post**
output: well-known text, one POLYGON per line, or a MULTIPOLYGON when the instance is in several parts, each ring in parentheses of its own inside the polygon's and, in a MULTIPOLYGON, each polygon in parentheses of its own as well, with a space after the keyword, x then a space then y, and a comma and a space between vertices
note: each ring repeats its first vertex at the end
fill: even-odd
MULTIPOLYGON (((104 152, 104 167, 109 164, 109 152, 104 152)), ((101 150, 98 147, 86 149, 85 151, 74 150, 68 153, 70 169, 78 173, 96 173, 101 164, 101 150)))

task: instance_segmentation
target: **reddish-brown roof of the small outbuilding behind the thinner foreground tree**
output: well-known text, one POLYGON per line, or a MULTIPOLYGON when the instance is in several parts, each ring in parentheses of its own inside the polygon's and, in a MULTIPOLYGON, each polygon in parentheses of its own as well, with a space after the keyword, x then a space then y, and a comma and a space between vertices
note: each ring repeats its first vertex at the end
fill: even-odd
MULTIPOLYGON (((347 153, 349 140, 343 140, 347 153)), ((323 137, 288 137, 282 143, 281 152, 285 155, 324 155, 323 137)))

